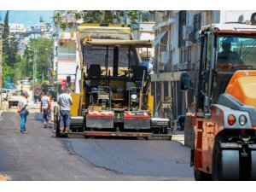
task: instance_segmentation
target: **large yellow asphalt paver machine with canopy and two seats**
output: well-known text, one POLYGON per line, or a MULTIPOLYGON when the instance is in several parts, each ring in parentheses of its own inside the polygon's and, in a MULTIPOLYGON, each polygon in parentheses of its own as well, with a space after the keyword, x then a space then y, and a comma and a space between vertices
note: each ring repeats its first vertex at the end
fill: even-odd
POLYGON ((169 119, 152 118, 148 68, 139 49, 150 40, 134 40, 125 26, 81 25, 80 93, 73 93, 71 130, 61 133, 55 108, 56 135, 84 137, 172 137, 169 119))

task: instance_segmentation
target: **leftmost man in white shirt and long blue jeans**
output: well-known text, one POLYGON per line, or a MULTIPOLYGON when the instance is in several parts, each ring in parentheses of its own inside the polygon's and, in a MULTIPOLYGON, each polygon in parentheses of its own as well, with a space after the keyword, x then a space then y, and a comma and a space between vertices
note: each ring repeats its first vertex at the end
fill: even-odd
POLYGON ((20 96, 18 102, 18 113, 20 113, 20 132, 27 133, 26 131, 26 116, 28 114, 27 110, 27 91, 23 90, 22 97, 20 96))

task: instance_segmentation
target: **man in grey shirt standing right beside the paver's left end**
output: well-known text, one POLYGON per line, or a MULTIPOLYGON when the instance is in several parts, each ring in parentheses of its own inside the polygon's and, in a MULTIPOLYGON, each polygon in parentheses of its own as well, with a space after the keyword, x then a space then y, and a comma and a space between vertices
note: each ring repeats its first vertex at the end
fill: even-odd
POLYGON ((70 90, 63 89, 61 95, 59 96, 58 104, 61 107, 61 113, 60 113, 60 131, 70 131, 70 107, 73 104, 73 100, 71 96, 69 95, 70 90))

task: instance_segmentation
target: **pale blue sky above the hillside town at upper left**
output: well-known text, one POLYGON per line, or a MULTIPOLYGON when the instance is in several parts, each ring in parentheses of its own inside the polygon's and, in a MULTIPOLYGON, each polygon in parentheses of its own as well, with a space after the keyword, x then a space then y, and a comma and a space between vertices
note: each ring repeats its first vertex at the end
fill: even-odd
MULTIPOLYGON (((9 10, 9 23, 22 23, 26 27, 40 24, 40 17, 50 22, 54 11, 52 10, 9 10)), ((6 10, 0 10, 1 20, 4 20, 6 10)))

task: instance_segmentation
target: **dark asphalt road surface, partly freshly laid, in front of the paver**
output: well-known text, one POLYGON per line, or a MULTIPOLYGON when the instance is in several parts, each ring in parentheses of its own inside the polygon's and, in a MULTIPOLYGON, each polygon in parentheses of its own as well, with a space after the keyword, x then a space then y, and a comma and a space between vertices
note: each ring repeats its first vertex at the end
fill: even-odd
POLYGON ((56 138, 44 129, 41 113, 30 113, 27 134, 20 116, 0 118, 0 173, 15 181, 194 180, 189 148, 144 139, 56 138))

